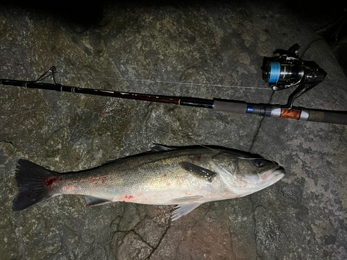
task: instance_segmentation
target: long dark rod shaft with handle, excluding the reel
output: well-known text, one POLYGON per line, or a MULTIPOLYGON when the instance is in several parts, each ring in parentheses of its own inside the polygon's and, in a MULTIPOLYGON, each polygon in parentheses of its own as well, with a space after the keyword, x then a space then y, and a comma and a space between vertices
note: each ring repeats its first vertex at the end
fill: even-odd
POLYGON ((139 101, 150 101, 173 105, 186 105, 191 107, 204 107, 216 111, 238 114, 257 114, 260 116, 273 116, 287 119, 300 119, 321 123, 337 123, 347 125, 347 112, 340 111, 307 110, 301 107, 296 107, 296 109, 288 109, 287 107, 280 107, 278 105, 248 104, 242 101, 160 96, 152 94, 138 94, 132 92, 116 92, 106 89, 85 89, 82 87, 70 87, 60 84, 39 83, 37 81, 0 80, 0 84, 17 87, 28 87, 31 89, 54 90, 57 92, 71 92, 96 96, 112 96, 115 98, 127 98, 139 101))

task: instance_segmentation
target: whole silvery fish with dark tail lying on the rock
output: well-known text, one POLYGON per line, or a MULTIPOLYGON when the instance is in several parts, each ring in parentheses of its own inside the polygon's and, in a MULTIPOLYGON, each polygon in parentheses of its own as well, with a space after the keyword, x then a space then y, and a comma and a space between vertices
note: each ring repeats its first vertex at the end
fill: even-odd
POLYGON ((177 220, 205 202, 247 196, 284 176, 276 162, 223 147, 155 144, 150 152, 70 173, 19 159, 15 171, 19 192, 12 210, 74 194, 85 196, 86 207, 110 202, 176 205, 171 220, 177 220))

